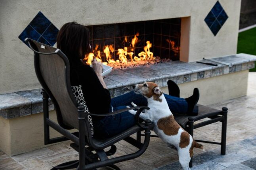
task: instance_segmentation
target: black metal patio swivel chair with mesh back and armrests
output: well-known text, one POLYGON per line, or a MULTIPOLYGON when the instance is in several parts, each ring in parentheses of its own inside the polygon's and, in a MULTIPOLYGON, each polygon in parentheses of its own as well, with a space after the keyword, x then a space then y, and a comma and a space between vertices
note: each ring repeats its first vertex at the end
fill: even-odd
MULTIPOLYGON (((34 51, 34 67, 36 76, 42 85, 43 112, 44 112, 44 144, 53 144, 65 140, 71 140, 71 147, 79 153, 79 160, 69 161, 57 165, 52 170, 76 168, 78 170, 96 169, 109 166, 118 170, 114 165, 117 162, 127 161, 139 157, 145 152, 150 140, 150 120, 139 123, 139 114, 146 106, 138 106, 118 110, 112 113, 100 114, 85 111, 85 106, 81 106, 72 93, 69 77, 69 60, 61 50, 36 42, 30 38, 25 40, 34 51), (58 124, 49 118, 48 99, 51 98, 57 113, 58 124), (107 116, 122 113, 124 111, 138 109, 136 113, 137 124, 124 132, 107 139, 97 139, 92 136, 92 127, 88 120, 89 116, 107 116), (52 127, 61 133, 62 137, 50 138, 49 128, 52 127), (70 129, 77 129, 78 132, 69 132, 70 129), (141 143, 130 135, 145 130, 145 139, 141 143), (114 145, 120 140, 134 145, 138 151, 128 155, 109 159, 114 155, 117 147, 114 145), (110 147, 109 151, 103 149, 110 147), (95 151, 95 152, 93 152, 95 151)), ((53 157, 54 159, 54 157, 53 157)))

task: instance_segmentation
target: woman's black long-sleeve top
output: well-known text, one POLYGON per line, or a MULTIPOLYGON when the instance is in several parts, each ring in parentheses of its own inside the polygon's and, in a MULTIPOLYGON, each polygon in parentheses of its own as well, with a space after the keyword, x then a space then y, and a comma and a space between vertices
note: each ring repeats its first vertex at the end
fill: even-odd
MULTIPOLYGON (((84 100, 90 113, 109 113, 111 97, 108 89, 104 89, 94 70, 80 60, 71 63, 71 86, 82 85, 84 100)), ((93 117, 100 119, 101 117, 93 117)))

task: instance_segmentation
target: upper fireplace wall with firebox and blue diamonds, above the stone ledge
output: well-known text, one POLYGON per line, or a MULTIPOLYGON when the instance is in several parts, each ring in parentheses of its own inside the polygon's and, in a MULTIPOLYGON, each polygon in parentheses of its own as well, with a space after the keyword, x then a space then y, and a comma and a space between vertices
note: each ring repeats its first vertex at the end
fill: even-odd
MULTIPOLYGON (((25 0, 17 3, 4 1, 1 6, 3 14, 1 19, 6 24, 1 25, 1 30, 4 32, 1 47, 5 57, 1 58, 0 71, 5 74, 2 74, 0 93, 40 87, 33 72, 32 52, 25 45, 24 38, 31 37, 48 45, 54 45, 59 28, 70 21, 89 26, 92 28, 92 34, 99 29, 95 35, 99 36, 99 39, 93 36, 91 39, 94 49, 97 41, 102 46, 101 48, 104 48, 105 39, 112 41, 107 42, 107 45, 115 45, 117 41, 121 41, 119 43, 121 46, 127 46, 126 43, 122 45, 125 35, 120 35, 121 39, 119 40, 119 35, 113 37, 115 40, 111 38, 107 40, 104 34, 100 35, 102 25, 108 26, 103 29, 109 29, 110 32, 111 29, 113 30, 111 25, 115 25, 114 32, 117 31, 118 25, 120 28, 122 26, 134 27, 134 30, 130 30, 132 34, 126 35, 129 43, 137 35, 136 28, 143 23, 145 31, 140 33, 138 30, 138 37, 141 41, 136 44, 136 48, 139 49, 140 46, 140 51, 143 51, 143 46, 146 46, 145 41, 147 41, 145 38, 148 33, 147 28, 150 27, 148 25, 153 22, 153 40, 151 36, 149 41, 152 43, 150 50, 155 56, 194 62, 202 60, 203 57, 212 59, 233 55, 236 53, 237 47, 240 4, 241 2, 237 0, 78 0, 75 2, 47 1, 45 3, 37 0, 33 3, 28 3, 25 0), (166 23, 170 26, 170 41, 168 41, 174 42, 173 47, 172 43, 168 44, 167 38, 164 38, 164 36, 169 36, 168 31, 167 35, 165 32, 168 30, 166 23), (160 29, 161 27, 164 28, 164 31, 160 29), (177 34, 171 35, 173 31, 177 34)), ((107 36, 111 36, 111 34, 107 34, 107 36)), ((118 48, 115 46, 115 50, 118 48)), ((101 56, 105 54, 103 50, 100 51, 101 56)), ((137 55, 136 52, 134 51, 134 56, 137 55)), ((117 53, 114 53, 112 57, 116 60, 117 53)))

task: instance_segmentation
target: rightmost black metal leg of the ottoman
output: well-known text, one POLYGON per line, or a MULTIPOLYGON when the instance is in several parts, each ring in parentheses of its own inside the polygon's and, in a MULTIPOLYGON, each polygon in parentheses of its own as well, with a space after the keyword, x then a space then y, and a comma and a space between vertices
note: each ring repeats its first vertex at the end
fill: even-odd
POLYGON ((221 155, 226 154, 226 136, 227 136, 227 108, 222 108, 224 120, 222 121, 222 141, 221 141, 221 155))

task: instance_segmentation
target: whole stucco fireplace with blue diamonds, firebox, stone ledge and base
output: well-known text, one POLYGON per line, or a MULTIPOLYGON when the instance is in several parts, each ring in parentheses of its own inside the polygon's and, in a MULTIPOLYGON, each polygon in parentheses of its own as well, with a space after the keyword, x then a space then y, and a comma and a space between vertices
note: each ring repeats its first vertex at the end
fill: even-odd
POLYGON ((41 87, 25 38, 55 46, 59 28, 76 21, 90 29, 92 54, 102 62, 143 61, 105 77, 112 97, 144 81, 168 93, 172 79, 181 97, 198 87, 199 104, 213 104, 245 96, 248 69, 255 66, 256 56, 236 54, 240 7, 241 0, 2 0, 0 150, 17 155, 44 147, 41 87))

